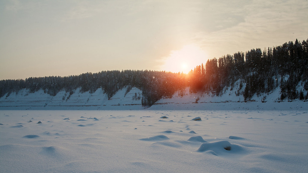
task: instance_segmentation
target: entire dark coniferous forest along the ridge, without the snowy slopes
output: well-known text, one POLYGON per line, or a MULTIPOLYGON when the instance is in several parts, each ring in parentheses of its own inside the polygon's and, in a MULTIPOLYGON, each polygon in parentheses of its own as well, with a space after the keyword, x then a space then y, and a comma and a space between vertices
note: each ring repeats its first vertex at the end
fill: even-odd
POLYGON ((95 92, 102 88, 111 98, 117 91, 128 86, 142 91, 141 103, 151 106, 162 97, 171 97, 176 91, 190 87, 190 92, 205 92, 222 95, 225 87, 233 88, 239 81, 240 87, 234 90, 249 101, 253 95, 270 93, 279 88, 280 100, 308 99, 308 39, 296 39, 281 46, 251 49, 247 52, 227 54, 207 60, 188 74, 148 70, 112 70, 98 73, 84 73, 73 76, 30 77, 0 81, 0 97, 12 92, 40 89, 55 96, 65 90, 72 94, 75 89, 81 92, 95 92), (301 86, 301 87, 298 87, 301 86))

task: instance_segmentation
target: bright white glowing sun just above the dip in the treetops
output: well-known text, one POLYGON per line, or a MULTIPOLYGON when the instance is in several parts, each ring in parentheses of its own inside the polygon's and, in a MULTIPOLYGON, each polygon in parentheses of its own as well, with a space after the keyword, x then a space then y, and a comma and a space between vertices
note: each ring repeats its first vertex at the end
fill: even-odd
POLYGON ((163 71, 174 73, 186 73, 196 66, 207 61, 205 50, 196 45, 186 45, 180 50, 172 50, 168 57, 164 57, 164 63, 160 67, 163 71))

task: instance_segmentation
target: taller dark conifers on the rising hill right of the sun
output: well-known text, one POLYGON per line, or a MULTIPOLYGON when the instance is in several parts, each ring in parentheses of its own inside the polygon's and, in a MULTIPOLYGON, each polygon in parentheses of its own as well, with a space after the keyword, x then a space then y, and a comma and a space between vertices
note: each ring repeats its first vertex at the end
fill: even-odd
POLYGON ((308 90, 308 39, 302 42, 296 39, 263 51, 257 48, 245 54, 237 52, 209 59, 205 68, 197 66, 190 75, 193 76, 193 91, 203 90, 218 96, 223 94, 224 88, 232 89, 234 83, 240 81, 234 92, 243 95, 245 100, 255 94, 269 94, 277 87, 281 91, 281 100, 307 100, 304 91, 308 90))

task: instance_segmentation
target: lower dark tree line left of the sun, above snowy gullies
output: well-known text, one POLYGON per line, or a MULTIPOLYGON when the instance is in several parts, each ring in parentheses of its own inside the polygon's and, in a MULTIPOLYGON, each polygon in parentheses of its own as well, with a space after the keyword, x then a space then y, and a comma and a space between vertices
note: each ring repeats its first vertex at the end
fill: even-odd
MULTIPOLYGON (((45 93, 55 96, 59 91, 65 90, 70 95, 77 88, 81 92, 95 92, 102 88, 110 99, 117 91, 125 86, 137 87, 142 91, 142 104, 152 105, 163 96, 172 96, 180 87, 184 87, 184 74, 171 73, 165 71, 148 70, 111 70, 98 73, 83 73, 80 75, 71 75, 66 77, 30 77, 17 80, 0 81, 0 97, 7 93, 7 97, 12 92, 18 92, 21 89, 28 89, 34 93, 42 89, 45 93)), ((128 92, 128 91, 127 91, 128 92)))

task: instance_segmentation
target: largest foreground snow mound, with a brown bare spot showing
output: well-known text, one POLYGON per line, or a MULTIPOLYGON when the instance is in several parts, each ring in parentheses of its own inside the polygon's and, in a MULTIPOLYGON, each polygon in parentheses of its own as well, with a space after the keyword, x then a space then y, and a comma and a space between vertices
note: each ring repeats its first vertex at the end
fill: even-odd
MULTIPOLYGON (((231 144, 229 141, 214 141, 210 143, 202 143, 198 152, 213 151, 214 155, 219 155, 227 152, 238 153, 243 150, 243 147, 237 144, 231 144)), ((212 153, 213 154, 213 153, 212 153)))

